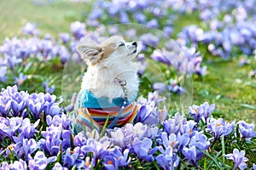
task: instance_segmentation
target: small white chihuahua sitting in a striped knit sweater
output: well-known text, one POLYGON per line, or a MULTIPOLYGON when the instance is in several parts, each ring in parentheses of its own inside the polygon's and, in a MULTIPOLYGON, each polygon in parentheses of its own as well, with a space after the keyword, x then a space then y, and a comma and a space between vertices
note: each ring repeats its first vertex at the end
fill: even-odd
POLYGON ((81 43, 77 50, 88 67, 74 109, 75 131, 132 122, 138 110, 138 65, 132 61, 137 42, 114 36, 100 44, 81 43))

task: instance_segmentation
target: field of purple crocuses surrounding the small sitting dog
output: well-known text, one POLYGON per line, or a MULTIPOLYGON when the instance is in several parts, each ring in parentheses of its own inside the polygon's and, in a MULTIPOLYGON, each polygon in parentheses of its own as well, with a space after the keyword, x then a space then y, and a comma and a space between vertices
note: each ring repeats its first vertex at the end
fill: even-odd
MULTIPOLYGON (((30 3, 43 8, 55 1, 30 3)), ((0 43, 0 169, 256 169, 254 122, 226 120, 217 98, 183 109, 169 99, 189 99, 183 96, 194 87, 183 82, 213 74, 207 56, 255 65, 256 0, 69 3, 90 4, 84 20, 56 35, 28 20, 0 43), (177 31, 175 23, 188 14, 198 22, 177 31), (75 47, 112 35, 138 42, 137 116, 124 127, 73 133, 84 72, 75 47)), ((250 79, 255 68, 246 73, 250 79)), ((241 105, 256 111, 253 104, 241 105)))

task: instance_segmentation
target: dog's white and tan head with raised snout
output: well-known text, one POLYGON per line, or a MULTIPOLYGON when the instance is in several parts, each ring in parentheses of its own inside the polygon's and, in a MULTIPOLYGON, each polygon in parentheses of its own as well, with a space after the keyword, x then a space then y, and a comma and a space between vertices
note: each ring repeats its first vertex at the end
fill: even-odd
POLYGON ((81 43, 77 50, 88 64, 95 65, 106 59, 133 59, 137 55, 137 42, 125 42, 122 37, 114 36, 100 44, 81 43))

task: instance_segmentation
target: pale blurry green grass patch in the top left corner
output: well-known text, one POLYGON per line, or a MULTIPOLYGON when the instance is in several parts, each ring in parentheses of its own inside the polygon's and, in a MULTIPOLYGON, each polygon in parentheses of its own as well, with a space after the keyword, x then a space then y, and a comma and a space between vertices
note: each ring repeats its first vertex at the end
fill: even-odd
MULTIPOLYGON (((39 1, 39 0, 38 0, 39 1)), ((10 0, 0 3, 0 41, 5 37, 20 35, 20 27, 26 22, 36 23, 42 33, 58 35, 69 31, 72 21, 84 20, 91 3, 70 3, 56 0, 54 3, 37 5, 32 0, 10 0)), ((40 0, 40 2, 48 2, 40 0)))

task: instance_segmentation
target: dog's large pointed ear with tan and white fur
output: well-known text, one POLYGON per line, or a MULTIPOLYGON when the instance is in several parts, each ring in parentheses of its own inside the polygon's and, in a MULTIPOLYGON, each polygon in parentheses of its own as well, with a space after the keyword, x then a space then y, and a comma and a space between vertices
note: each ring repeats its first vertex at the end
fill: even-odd
POLYGON ((87 62, 90 62, 92 65, 96 64, 96 62, 101 59, 102 55, 104 54, 104 48, 97 45, 79 44, 76 48, 81 57, 87 62))

